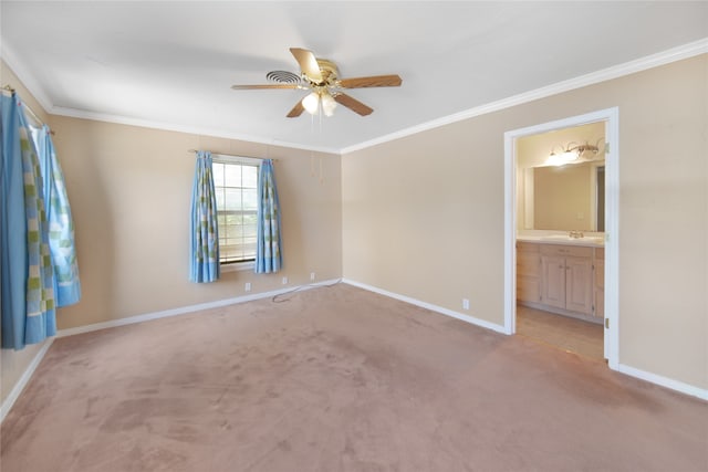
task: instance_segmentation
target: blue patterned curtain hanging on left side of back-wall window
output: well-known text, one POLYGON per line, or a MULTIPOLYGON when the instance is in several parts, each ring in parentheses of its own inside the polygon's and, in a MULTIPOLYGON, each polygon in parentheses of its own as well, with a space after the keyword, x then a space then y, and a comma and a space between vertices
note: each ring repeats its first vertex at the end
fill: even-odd
POLYGON ((217 197, 211 174, 211 153, 197 153, 195 182, 191 190, 191 254, 189 280, 214 282, 219 279, 219 225, 217 197))

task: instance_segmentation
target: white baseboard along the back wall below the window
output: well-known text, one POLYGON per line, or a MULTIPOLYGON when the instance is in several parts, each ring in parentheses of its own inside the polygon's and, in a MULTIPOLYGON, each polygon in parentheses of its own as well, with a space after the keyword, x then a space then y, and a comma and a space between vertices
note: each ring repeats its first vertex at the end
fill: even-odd
POLYGON ((107 328, 113 328, 117 326, 132 325, 135 323, 149 322, 153 319, 167 318, 170 316, 186 315, 188 313, 199 312, 202 310, 219 308, 221 306, 236 305, 238 303, 252 302, 254 300, 270 298, 270 297, 273 297, 277 295, 283 295, 290 292, 315 289, 317 286, 324 286, 324 285, 331 285, 340 281, 341 279, 333 279, 329 281, 312 283, 309 285, 290 286, 287 289, 274 290, 271 292, 254 293, 251 295, 237 296, 235 298, 218 300, 216 302, 199 303, 196 305, 180 306, 179 308, 170 308, 170 310, 164 310, 160 312, 145 313, 143 315, 128 316, 126 318, 111 319, 110 322, 76 326, 74 328, 60 329, 56 333, 56 337, 74 336, 77 334, 91 333, 98 329, 107 329, 107 328))

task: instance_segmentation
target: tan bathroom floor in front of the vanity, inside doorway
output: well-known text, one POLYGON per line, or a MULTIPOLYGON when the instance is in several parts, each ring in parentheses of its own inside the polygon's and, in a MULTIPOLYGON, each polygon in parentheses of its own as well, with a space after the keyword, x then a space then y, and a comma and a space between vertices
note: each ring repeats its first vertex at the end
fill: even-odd
POLYGON ((517 305, 517 334, 586 358, 604 358, 600 324, 517 305))

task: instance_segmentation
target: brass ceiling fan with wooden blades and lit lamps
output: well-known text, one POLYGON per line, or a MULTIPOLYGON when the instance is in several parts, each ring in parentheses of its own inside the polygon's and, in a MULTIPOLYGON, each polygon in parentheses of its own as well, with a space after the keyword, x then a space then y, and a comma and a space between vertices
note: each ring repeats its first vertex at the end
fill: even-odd
POLYGON ((334 62, 326 59, 317 59, 312 51, 306 49, 290 48, 290 52, 300 64, 300 75, 288 71, 271 71, 266 74, 266 77, 272 82, 279 82, 278 84, 232 85, 231 88, 235 91, 266 88, 310 91, 310 94, 298 102, 288 113, 287 116, 289 118, 295 118, 305 111, 312 115, 323 113, 325 116, 332 116, 337 103, 362 116, 366 116, 374 109, 343 93, 343 88, 397 87, 402 83, 400 77, 395 74, 340 78, 334 62))

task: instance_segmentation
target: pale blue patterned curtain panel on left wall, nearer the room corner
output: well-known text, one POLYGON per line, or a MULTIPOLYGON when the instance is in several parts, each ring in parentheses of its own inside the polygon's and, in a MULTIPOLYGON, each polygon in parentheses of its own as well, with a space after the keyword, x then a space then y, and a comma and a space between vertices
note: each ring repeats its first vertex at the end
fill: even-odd
POLYGON ((56 159, 52 135, 46 125, 35 134, 44 186, 44 204, 49 220, 49 248, 54 266, 56 306, 67 306, 81 300, 81 282, 74 244, 74 221, 71 217, 64 175, 56 159))

